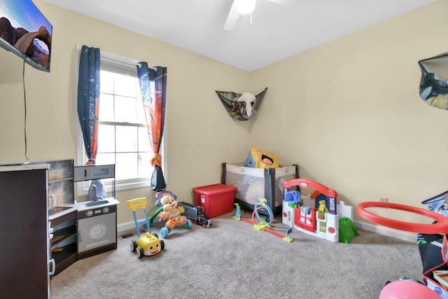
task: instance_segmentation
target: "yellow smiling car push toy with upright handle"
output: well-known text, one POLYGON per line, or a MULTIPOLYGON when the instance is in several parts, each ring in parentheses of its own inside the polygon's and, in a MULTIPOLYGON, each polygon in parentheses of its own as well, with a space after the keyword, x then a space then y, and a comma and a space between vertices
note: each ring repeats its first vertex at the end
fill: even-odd
POLYGON ((146 197, 128 200, 127 205, 132 210, 132 214, 134 214, 134 222, 138 238, 137 240, 134 239, 131 241, 131 250, 137 251, 137 258, 141 258, 142 256, 154 256, 162 251, 165 248, 165 243, 163 240, 158 238, 157 234, 151 234, 151 230, 149 228, 149 219, 146 215, 146 197), (137 220, 137 209, 143 210, 143 214, 145 216, 144 220, 137 220), (146 234, 140 234, 139 225, 146 226, 146 229, 148 230, 146 234))

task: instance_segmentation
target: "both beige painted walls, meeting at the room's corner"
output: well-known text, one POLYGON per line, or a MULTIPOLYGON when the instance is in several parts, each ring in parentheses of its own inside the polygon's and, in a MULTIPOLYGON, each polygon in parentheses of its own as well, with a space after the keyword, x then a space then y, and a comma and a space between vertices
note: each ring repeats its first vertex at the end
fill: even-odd
MULTIPOLYGON (((54 32, 50 74, 25 66, 29 160, 76 157, 75 45, 85 44, 168 68, 167 183, 180 200, 218 183, 221 162, 244 160, 249 146, 297 163, 302 177, 353 207, 379 197, 421 207, 448 188, 447 111, 419 98, 417 65, 447 51, 446 0, 251 73, 35 3, 54 32), (265 87, 258 116, 247 122, 232 120, 214 92, 265 87)), ((6 51, 0 61, 11 72, 0 74, 0 162, 24 161, 22 61, 6 51)), ((151 188, 117 194, 118 223, 132 221, 125 201, 140 196, 154 200, 151 188)))

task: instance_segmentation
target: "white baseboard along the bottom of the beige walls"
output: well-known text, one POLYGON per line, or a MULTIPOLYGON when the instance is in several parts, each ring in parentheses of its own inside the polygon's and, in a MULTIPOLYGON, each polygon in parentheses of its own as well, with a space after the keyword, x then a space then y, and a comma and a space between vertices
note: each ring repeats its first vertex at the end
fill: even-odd
MULTIPOLYGON (((385 235, 388 237, 401 239, 403 241, 416 243, 416 235, 417 235, 416 232, 405 232, 402 230, 395 230, 393 228, 386 228, 384 226, 373 225, 361 221, 353 221, 353 224, 356 226, 356 228, 360 228, 362 230, 368 230, 370 232, 376 232, 379 235, 385 235)), ((118 235, 120 235, 120 233, 127 232, 129 230, 135 230, 134 221, 117 225, 118 235)))

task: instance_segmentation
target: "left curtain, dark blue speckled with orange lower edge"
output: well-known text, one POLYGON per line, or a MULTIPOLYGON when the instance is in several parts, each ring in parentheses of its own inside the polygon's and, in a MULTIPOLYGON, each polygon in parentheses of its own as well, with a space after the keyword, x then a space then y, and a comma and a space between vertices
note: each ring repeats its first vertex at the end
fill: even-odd
POLYGON ((97 158, 100 65, 99 48, 83 46, 79 60, 78 118, 87 165, 95 164, 97 158))

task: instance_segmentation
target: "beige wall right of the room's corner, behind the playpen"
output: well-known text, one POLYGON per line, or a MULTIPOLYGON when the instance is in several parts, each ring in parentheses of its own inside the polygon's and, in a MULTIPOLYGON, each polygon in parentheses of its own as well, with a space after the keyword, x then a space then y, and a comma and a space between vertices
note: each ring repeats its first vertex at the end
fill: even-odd
POLYGON ((269 86, 254 143, 270 137, 283 162, 353 207, 423 207, 448 189, 448 112, 420 99, 417 62, 448 51, 446 11, 437 1, 253 72, 255 89, 269 86))

